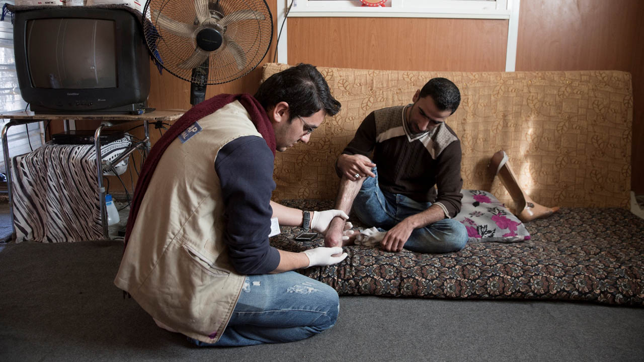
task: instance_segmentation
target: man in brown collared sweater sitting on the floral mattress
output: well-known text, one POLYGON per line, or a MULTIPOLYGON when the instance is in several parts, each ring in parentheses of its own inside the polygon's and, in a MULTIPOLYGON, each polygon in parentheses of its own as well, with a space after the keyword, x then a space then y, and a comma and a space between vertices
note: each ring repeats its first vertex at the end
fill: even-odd
MULTIPOLYGON (((361 222, 379 228, 369 235, 371 243, 392 252, 465 246, 468 233, 452 219, 462 198, 460 141, 445 124, 459 103, 453 82, 431 79, 413 95, 413 104, 370 113, 337 158, 336 208, 348 213, 353 205, 361 222)), ((342 244, 344 224, 341 218, 332 221, 326 246, 342 244)))

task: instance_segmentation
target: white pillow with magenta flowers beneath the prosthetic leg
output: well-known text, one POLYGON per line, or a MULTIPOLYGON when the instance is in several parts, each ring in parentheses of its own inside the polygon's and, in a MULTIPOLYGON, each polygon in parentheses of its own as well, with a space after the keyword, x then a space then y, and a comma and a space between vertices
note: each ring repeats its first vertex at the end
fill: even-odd
POLYGON ((461 190, 462 207, 455 219, 468 229, 468 242, 516 243, 530 239, 526 227, 486 191, 461 190))

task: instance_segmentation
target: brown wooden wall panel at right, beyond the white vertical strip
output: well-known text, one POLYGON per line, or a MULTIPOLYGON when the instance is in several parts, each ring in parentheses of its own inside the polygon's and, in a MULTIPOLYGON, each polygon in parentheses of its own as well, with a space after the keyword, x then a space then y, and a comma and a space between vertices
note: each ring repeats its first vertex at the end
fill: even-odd
POLYGON ((516 70, 632 73, 632 189, 644 194, 644 4, 640 0, 522 1, 516 70))

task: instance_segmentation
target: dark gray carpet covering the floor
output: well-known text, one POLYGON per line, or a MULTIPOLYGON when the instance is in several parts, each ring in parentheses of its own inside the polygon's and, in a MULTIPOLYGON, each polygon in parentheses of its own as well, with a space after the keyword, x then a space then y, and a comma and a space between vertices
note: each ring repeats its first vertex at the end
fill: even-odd
POLYGON ((113 285, 121 242, 0 244, 0 361, 644 361, 644 309, 343 296, 294 343, 193 347, 113 285))

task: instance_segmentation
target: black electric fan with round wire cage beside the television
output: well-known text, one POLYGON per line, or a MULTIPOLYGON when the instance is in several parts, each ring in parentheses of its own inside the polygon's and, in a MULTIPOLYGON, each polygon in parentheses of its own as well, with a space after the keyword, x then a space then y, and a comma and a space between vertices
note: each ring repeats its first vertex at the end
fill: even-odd
POLYGON ((193 106, 207 84, 258 66, 273 37, 265 0, 147 0, 143 16, 147 46, 169 73, 191 82, 193 106))

